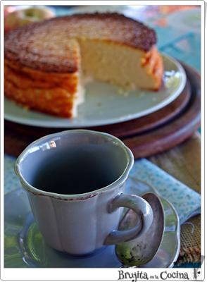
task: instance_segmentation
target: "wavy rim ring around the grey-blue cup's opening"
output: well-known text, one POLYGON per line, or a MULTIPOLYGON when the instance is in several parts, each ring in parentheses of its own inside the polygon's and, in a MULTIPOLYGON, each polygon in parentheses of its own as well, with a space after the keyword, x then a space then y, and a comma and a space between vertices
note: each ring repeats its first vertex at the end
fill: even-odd
POLYGON ((15 161, 15 173, 17 174, 18 178, 20 179, 20 183, 23 185, 23 188, 25 188, 28 192, 32 192, 35 195, 45 195, 45 196, 49 196, 49 197, 54 197, 58 200, 84 200, 87 199, 89 197, 94 197, 95 195, 98 194, 98 192, 103 192, 106 190, 114 190, 115 188, 118 188, 118 186, 122 185, 125 180, 127 180, 127 177, 130 173, 130 170, 132 169, 132 166, 134 165, 134 155, 132 154, 132 151, 123 143, 123 141, 121 141, 120 139, 118 139, 118 137, 115 137, 109 133, 103 133, 100 131, 95 131, 95 130, 86 130, 86 129, 74 129, 74 130, 63 130, 61 132, 58 133, 52 133, 49 135, 45 135, 43 137, 40 137, 39 139, 35 140, 34 142, 32 142, 30 145, 28 145, 23 152, 21 152, 21 154, 18 156, 18 159, 15 161), (103 137, 108 137, 110 139, 113 139, 116 144, 120 145, 120 147, 122 147, 125 150, 126 153, 126 157, 127 157, 127 166, 125 167, 125 170, 123 171, 123 173, 120 175, 120 177, 118 179, 116 179, 113 183, 104 186, 103 188, 99 188, 97 190, 93 190, 91 192, 85 192, 82 194, 58 194, 55 192, 46 192, 44 190, 40 190, 38 188, 35 188, 34 186, 32 186, 30 183, 28 183, 25 178, 23 177, 22 173, 21 173, 21 168, 20 168, 20 164, 23 161, 23 159, 26 157, 26 155, 28 154, 29 150, 34 147, 37 142, 44 142, 44 140, 49 141, 51 138, 57 137, 60 135, 65 135, 65 134, 73 134, 73 133, 91 133, 91 134, 95 134, 95 135, 102 135, 103 137))

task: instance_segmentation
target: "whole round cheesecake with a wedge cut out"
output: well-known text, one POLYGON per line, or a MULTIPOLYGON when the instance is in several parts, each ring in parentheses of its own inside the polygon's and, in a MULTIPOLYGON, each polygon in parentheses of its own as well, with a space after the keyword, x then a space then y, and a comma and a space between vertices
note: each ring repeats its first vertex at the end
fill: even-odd
POLYGON ((51 18, 5 36, 5 96, 25 109, 75 118, 89 79, 157 91, 162 78, 154 30, 118 13, 51 18))

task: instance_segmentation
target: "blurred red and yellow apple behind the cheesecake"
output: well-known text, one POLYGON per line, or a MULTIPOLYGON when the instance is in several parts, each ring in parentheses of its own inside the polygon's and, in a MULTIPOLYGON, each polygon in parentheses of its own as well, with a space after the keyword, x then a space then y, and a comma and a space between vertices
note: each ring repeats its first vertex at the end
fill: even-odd
POLYGON ((26 25, 39 20, 54 18, 55 13, 47 7, 32 7, 4 13, 4 33, 21 25, 26 25))

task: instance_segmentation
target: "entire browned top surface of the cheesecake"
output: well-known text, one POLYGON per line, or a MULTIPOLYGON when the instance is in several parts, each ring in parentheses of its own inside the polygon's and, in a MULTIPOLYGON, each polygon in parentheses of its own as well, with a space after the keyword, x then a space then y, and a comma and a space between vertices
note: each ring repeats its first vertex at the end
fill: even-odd
POLYGON ((84 38, 125 44, 146 52, 156 44, 156 33, 131 18, 118 13, 78 14, 8 32, 5 58, 47 73, 74 73, 78 71, 77 39, 84 38))

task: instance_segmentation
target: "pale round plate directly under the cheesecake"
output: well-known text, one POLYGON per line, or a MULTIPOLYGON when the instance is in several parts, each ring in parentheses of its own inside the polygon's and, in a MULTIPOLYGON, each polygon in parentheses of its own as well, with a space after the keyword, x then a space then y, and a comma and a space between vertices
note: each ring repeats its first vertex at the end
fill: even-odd
POLYGON ((89 82, 84 104, 78 107, 73 120, 27 111, 4 99, 4 117, 8 121, 47 128, 85 128, 130 121, 163 108, 176 99, 186 83, 184 69, 175 59, 163 55, 165 74, 158 92, 131 90, 106 82, 89 82), (120 94, 120 92, 122 92, 120 94))

